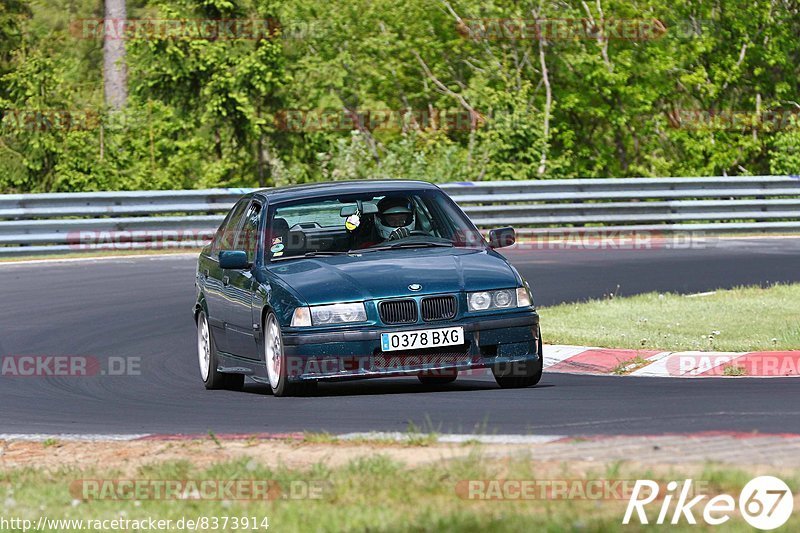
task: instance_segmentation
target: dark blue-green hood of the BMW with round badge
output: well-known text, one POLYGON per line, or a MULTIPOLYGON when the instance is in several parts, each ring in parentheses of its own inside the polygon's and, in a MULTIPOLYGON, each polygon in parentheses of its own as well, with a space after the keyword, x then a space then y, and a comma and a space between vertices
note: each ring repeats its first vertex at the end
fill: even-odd
POLYGON ((411 248, 304 258, 268 270, 308 304, 516 287, 516 271, 490 250, 411 248), (409 285, 422 289, 411 291, 409 285))

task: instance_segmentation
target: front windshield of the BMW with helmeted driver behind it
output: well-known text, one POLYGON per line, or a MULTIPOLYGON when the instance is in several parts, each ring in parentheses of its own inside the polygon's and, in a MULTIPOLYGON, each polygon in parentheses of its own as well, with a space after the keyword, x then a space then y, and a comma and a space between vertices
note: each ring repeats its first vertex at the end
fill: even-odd
POLYGON ((267 258, 376 253, 398 248, 484 247, 478 230, 437 189, 342 194, 273 206, 267 258))

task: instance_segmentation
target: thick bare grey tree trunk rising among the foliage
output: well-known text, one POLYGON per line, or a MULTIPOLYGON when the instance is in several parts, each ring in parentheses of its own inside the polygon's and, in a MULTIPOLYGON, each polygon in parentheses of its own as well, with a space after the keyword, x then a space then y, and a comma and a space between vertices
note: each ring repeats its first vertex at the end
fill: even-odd
MULTIPOLYGON (((105 0, 106 27, 122 27, 127 18, 125 0, 105 0)), ((125 67, 125 40, 122 32, 104 32, 103 88, 106 105, 114 111, 125 107, 128 99, 128 73, 125 67)))

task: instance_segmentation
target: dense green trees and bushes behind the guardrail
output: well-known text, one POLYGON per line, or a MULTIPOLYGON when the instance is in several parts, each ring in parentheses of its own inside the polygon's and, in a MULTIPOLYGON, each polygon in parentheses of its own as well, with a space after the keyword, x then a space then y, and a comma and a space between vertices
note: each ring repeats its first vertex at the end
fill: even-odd
POLYGON ((102 16, 0 4, 0 192, 800 172, 793 2, 128 0, 272 33, 129 38, 118 114, 102 16))

